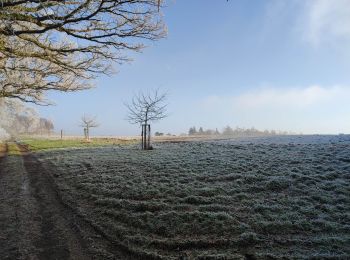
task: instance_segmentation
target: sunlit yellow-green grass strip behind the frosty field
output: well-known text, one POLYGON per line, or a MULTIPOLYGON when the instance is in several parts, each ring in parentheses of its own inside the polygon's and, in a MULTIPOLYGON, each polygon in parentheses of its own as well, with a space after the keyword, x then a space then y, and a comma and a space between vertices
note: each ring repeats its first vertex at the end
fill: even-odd
POLYGON ((92 138, 89 142, 84 139, 40 139, 40 138, 25 138, 22 140, 28 145, 31 151, 41 151, 61 148, 89 148, 98 146, 132 144, 136 140, 123 140, 113 138, 92 138))

